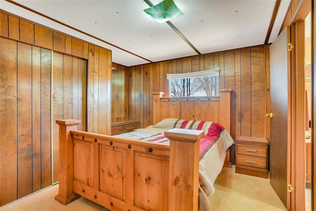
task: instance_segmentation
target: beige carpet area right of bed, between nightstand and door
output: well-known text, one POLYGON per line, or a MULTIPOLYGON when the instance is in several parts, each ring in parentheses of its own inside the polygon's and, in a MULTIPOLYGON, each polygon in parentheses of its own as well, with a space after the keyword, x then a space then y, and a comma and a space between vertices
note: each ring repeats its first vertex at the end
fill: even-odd
POLYGON ((223 168, 209 197, 212 211, 286 211, 270 180, 223 168))

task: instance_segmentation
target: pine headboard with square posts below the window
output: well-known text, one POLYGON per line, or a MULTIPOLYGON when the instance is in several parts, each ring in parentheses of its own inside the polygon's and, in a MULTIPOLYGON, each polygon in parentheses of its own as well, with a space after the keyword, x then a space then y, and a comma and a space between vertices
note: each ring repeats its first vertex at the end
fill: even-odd
POLYGON ((220 89, 219 97, 162 97, 163 92, 153 94, 153 125, 165 118, 201 120, 219 123, 231 131, 231 92, 220 89))

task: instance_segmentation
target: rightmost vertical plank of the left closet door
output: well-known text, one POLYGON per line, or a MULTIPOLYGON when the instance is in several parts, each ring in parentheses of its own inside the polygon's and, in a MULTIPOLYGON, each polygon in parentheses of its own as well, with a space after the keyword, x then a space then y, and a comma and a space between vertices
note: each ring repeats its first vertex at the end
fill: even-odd
POLYGON ((51 51, 41 48, 40 55, 40 124, 41 188, 52 184, 51 169, 51 51))

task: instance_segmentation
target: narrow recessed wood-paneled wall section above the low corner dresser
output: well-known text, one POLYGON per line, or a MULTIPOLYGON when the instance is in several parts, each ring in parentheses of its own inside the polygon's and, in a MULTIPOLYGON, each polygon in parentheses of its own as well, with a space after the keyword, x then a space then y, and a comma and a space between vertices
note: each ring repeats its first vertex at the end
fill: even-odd
POLYGON ((112 62, 112 123, 128 118, 128 68, 112 62))

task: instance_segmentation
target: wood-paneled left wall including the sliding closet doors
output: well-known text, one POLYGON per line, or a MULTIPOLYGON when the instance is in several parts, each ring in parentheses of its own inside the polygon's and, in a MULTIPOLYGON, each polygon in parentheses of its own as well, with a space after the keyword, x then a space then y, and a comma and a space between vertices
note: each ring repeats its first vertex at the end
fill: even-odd
POLYGON ((3 206, 58 181, 56 119, 111 134, 112 52, 2 10, 0 17, 3 206))

